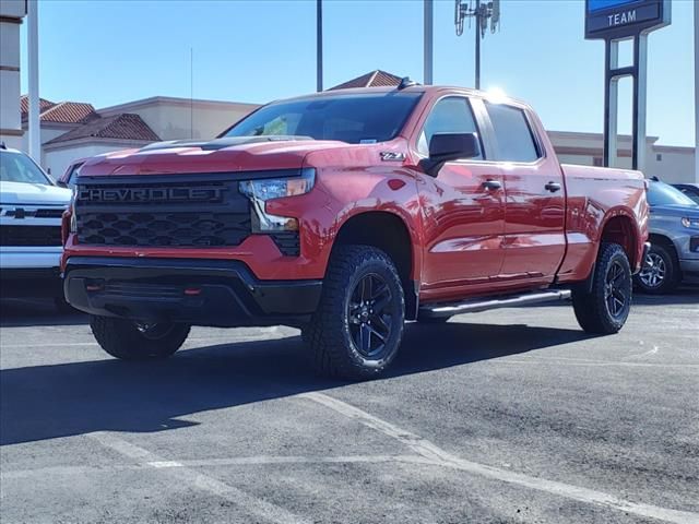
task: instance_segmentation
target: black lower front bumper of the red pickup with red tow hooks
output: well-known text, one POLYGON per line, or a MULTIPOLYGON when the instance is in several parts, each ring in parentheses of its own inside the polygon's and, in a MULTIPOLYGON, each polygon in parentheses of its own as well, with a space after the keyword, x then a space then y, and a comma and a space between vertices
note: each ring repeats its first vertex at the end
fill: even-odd
POLYGON ((66 299, 92 314, 223 327, 304 324, 322 288, 229 260, 70 257, 63 277, 66 299))

